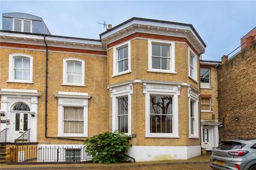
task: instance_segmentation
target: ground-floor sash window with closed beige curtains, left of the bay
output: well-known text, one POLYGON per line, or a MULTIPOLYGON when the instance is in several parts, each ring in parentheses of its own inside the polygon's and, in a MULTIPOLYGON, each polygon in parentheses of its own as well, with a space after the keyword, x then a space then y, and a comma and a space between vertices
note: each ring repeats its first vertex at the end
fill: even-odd
POLYGON ((64 107, 64 133, 84 133, 84 108, 64 107))

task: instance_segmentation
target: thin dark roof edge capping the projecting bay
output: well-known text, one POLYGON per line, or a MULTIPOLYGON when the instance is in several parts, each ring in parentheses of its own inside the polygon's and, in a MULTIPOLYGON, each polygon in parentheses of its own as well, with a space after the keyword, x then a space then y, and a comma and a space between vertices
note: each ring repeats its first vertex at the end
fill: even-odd
POLYGON ((183 25, 183 26, 188 26, 188 27, 191 27, 192 30, 195 32, 196 36, 200 39, 200 41, 203 43, 203 45, 206 47, 207 45, 205 44, 205 42, 203 41, 203 39, 199 36, 199 33, 197 33, 196 29, 193 27, 192 24, 187 24, 187 23, 178 23, 178 22, 170 22, 170 21, 166 21, 166 20, 157 20, 157 19, 147 19, 147 18, 137 18, 137 17, 133 17, 129 20, 126 20, 125 22, 121 23, 121 24, 118 24, 116 25, 115 27, 111 28, 111 29, 108 29, 107 31, 105 32, 102 32, 100 34, 100 37, 102 35, 105 35, 106 33, 110 32, 110 31, 113 31, 114 29, 117 29, 119 27, 121 27, 122 25, 125 25, 126 23, 129 23, 133 20, 141 20, 141 21, 148 21, 148 22, 157 22, 157 23, 166 23, 166 24, 174 24, 174 25, 183 25))

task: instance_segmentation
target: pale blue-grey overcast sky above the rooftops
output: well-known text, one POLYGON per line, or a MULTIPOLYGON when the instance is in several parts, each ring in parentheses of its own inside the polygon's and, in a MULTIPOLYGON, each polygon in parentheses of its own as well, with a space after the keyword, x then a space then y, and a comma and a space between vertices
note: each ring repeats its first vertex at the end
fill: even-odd
MULTIPOLYGON (((133 16, 190 23, 207 44, 203 59, 220 61, 256 25, 256 1, 0 1, 0 12, 43 18, 52 35, 99 39, 133 16)), ((2 17, 1 25, 2 29, 2 17)))

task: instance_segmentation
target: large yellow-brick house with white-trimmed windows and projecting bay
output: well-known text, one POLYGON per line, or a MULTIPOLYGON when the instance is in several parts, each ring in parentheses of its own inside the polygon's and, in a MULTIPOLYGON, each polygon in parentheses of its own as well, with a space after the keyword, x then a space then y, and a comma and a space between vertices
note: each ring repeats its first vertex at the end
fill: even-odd
MULTIPOLYGON (((212 82, 200 112, 206 45, 193 25, 131 18, 94 40, 51 35, 34 15, 3 14, 6 23, 0 32, 6 143, 73 147, 82 160, 84 139, 119 130, 133 137, 128 154, 147 161, 200 155, 200 113, 201 128, 217 135, 217 63, 201 62, 212 82)), ((69 160, 72 153, 60 156, 69 160)))

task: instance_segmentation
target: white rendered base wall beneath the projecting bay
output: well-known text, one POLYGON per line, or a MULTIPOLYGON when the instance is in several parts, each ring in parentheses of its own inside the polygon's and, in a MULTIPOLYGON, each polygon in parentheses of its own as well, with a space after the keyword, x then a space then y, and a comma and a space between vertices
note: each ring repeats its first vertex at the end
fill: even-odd
POLYGON ((201 146, 133 146, 127 155, 136 162, 190 159, 201 155, 201 146))

